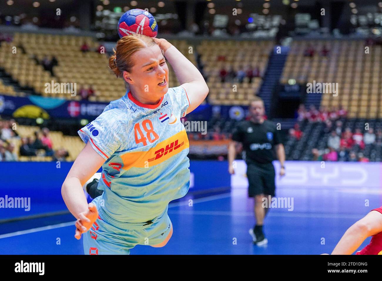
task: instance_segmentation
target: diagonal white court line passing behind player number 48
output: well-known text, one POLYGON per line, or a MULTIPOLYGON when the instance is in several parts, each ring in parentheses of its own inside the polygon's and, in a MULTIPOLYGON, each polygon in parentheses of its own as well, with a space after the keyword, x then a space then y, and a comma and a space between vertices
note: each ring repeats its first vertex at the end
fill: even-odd
MULTIPOLYGON (((227 198, 230 196, 231 196, 231 193, 212 195, 212 196, 207 196, 204 198, 195 199, 195 200, 193 200, 193 203, 202 203, 202 202, 206 202, 206 201, 218 200, 218 199, 227 198)), ((182 206, 182 205, 188 205, 188 200, 170 203, 168 205, 168 208, 176 207, 176 206, 182 206)), ((55 228, 60 228, 60 227, 65 227, 65 226, 70 226, 70 225, 74 225, 75 223, 76 223, 76 221, 71 221, 68 223, 59 223, 59 224, 53 224, 50 226, 42 226, 42 227, 26 229, 26 230, 22 230, 22 231, 11 232, 11 233, 0 235, 0 239, 18 236, 18 235, 23 235, 23 234, 34 233, 34 232, 39 232, 39 231, 44 231, 44 230, 49 230, 49 229, 55 229, 55 228)))

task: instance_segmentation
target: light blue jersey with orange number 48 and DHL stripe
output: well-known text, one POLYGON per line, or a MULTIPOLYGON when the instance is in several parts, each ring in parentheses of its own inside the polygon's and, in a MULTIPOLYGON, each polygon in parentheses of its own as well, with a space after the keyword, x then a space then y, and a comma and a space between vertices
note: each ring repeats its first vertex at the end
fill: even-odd
POLYGON ((169 88, 156 105, 127 92, 78 131, 105 159, 98 185, 104 193, 95 201, 104 221, 121 227, 152 221, 187 193, 189 143, 180 118, 188 107, 182 86, 169 88))

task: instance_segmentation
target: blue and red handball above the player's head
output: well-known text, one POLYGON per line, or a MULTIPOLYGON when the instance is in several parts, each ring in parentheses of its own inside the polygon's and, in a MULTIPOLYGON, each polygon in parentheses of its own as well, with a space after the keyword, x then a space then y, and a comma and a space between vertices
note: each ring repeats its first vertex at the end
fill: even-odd
POLYGON ((158 34, 157 21, 148 11, 142 9, 129 10, 118 21, 118 35, 122 38, 132 33, 156 37, 158 34))

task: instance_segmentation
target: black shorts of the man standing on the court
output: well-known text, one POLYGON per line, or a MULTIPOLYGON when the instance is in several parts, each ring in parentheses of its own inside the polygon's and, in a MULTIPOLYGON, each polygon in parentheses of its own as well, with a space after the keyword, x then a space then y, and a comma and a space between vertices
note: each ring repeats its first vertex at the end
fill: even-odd
POLYGON ((265 194, 275 196, 275 167, 268 164, 247 164, 248 196, 265 194))

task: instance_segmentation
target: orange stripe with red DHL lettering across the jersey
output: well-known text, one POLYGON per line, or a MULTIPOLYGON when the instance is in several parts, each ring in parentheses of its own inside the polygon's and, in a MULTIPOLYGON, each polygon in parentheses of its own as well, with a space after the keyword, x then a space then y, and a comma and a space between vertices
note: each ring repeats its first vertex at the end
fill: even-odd
POLYGON ((147 151, 130 152, 121 155, 123 161, 121 169, 128 170, 131 167, 155 166, 186 148, 189 148, 189 142, 186 131, 182 130, 147 151))

